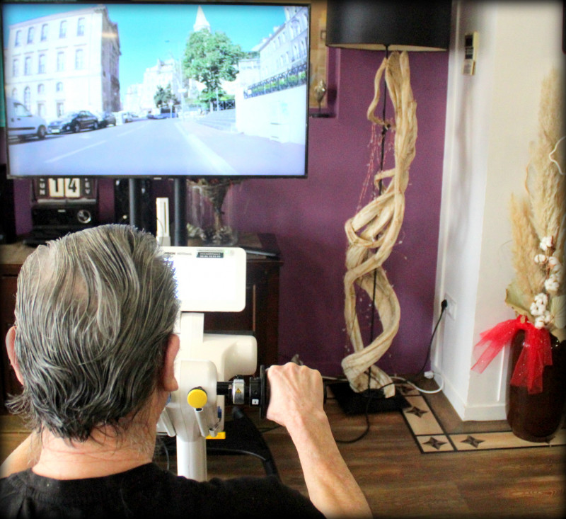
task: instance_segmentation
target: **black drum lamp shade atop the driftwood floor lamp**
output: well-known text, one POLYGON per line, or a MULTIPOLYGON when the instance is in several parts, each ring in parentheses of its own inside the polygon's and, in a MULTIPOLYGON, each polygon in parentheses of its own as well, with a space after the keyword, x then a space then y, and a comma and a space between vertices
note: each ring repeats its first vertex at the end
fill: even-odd
POLYGON ((326 45, 364 50, 446 50, 451 1, 328 0, 326 45))

